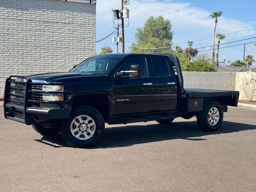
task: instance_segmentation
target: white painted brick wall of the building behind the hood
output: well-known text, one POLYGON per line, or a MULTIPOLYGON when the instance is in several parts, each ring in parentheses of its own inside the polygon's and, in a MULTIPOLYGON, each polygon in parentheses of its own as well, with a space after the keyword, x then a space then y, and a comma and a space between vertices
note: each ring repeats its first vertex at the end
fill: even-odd
POLYGON ((11 74, 68 71, 95 54, 96 0, 78 1, 0 0, 0 98, 11 74))

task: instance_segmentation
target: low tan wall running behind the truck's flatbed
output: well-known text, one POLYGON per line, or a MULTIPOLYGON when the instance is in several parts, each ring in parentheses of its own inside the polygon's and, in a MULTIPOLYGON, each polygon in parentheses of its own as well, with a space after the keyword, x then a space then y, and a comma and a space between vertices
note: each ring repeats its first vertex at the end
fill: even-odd
POLYGON ((240 100, 253 94, 256 100, 256 72, 183 72, 185 88, 240 91, 240 100), (245 81, 248 80, 246 84, 245 81), (246 93, 244 93, 246 91, 246 93))

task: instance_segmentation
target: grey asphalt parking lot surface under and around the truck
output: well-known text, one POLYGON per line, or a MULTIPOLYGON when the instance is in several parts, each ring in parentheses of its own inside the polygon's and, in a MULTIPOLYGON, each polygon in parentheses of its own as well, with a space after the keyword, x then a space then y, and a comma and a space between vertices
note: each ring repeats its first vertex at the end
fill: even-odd
POLYGON ((4 119, 1 105, 0 191, 256 191, 256 110, 230 107, 214 133, 195 118, 106 125, 81 149, 4 119))

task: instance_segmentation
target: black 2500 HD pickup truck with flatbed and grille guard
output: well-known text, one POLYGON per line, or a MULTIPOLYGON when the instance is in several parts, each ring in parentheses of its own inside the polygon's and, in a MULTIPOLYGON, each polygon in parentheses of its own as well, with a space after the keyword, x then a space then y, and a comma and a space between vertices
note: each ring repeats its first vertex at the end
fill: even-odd
POLYGON ((104 54, 69 72, 10 76, 4 116, 42 135, 61 132, 70 146, 90 147, 102 138, 105 123, 170 124, 196 116, 202 130, 216 131, 238 97, 237 91, 184 88, 173 54, 104 54))

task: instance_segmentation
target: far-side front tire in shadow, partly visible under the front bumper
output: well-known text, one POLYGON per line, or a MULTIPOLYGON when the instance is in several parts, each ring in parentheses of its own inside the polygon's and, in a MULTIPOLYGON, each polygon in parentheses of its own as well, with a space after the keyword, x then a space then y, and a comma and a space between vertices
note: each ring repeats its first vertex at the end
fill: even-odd
POLYGON ((41 135, 56 135, 60 132, 60 124, 59 122, 50 122, 45 121, 39 123, 32 124, 32 127, 36 132, 41 135))

